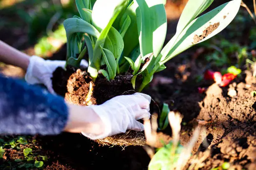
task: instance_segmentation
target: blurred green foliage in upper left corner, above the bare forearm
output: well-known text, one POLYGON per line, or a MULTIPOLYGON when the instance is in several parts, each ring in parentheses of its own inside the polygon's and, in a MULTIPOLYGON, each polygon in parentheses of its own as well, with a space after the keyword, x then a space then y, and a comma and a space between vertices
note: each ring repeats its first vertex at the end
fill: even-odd
POLYGON ((66 42, 63 21, 78 14, 74 0, 2 0, 0 39, 31 55, 50 57, 66 42))

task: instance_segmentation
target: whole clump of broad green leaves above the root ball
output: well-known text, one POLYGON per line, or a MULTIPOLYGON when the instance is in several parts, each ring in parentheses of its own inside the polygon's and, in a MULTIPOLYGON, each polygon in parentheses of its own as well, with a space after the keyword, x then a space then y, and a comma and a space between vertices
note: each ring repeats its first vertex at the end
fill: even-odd
POLYGON ((189 0, 176 34, 166 38, 166 0, 76 0, 80 16, 64 21, 67 63, 78 67, 88 52, 88 72, 93 80, 102 73, 108 80, 128 72, 138 91, 148 85, 168 60, 189 47, 218 34, 234 19, 241 0, 232 0, 200 15, 213 0, 189 0), (199 16, 200 15, 200 16, 199 16), (101 69, 106 65, 106 69, 101 69), (141 81, 136 82, 140 75, 141 81))

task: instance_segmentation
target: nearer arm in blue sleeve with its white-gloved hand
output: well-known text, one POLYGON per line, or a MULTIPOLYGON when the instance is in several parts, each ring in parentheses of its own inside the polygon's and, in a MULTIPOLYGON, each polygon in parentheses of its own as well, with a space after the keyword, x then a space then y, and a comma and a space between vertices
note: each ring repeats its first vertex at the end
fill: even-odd
POLYGON ((0 76, 0 134, 56 135, 67 131, 97 139, 127 129, 143 130, 136 120, 148 116, 148 100, 136 94, 82 107, 66 104, 62 97, 39 87, 0 76))

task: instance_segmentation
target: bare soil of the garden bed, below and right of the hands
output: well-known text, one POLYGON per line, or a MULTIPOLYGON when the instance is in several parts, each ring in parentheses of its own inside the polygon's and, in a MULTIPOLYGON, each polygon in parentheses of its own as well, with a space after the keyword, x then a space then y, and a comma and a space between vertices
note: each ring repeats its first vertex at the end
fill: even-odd
MULTIPOLYGON (((189 142, 199 120, 204 124, 205 134, 201 134, 192 152, 195 154, 192 159, 195 159, 198 154, 206 155, 203 152, 207 151, 207 146, 203 141, 210 146, 211 153, 205 158, 203 169, 210 170, 224 162, 238 169, 255 168, 256 99, 251 96, 256 89, 255 77, 244 72, 230 87, 219 87, 211 81, 195 82, 192 77, 204 71, 201 65, 205 61, 199 58, 195 62, 193 57, 185 55, 168 62, 167 69, 156 74, 151 86, 143 92, 156 102, 167 102, 171 110, 181 112, 184 117, 182 145, 189 142), (208 86, 205 94, 197 90, 197 87, 208 86), (235 97, 228 95, 229 88, 236 90, 235 97)), ((172 135, 169 127, 163 133, 166 140, 171 140, 168 137, 172 135)), ((38 137, 37 140, 42 146, 41 151, 49 156, 48 169, 146 170, 150 161, 141 146, 102 146, 80 134, 63 133, 38 137)))

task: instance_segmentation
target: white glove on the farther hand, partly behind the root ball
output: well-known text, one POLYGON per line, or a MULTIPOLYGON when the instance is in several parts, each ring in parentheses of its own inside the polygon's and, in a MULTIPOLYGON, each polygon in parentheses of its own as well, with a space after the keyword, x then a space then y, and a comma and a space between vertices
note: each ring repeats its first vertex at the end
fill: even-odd
MULTIPOLYGON (((55 94, 51 82, 52 73, 57 67, 64 68, 65 63, 66 61, 44 60, 41 57, 33 55, 29 59, 25 80, 29 84, 44 84, 48 88, 49 92, 55 94)), ((88 62, 86 60, 82 60, 81 65, 88 67, 88 62)))

